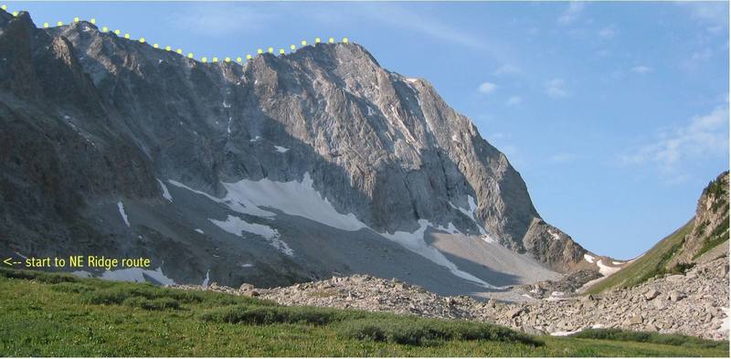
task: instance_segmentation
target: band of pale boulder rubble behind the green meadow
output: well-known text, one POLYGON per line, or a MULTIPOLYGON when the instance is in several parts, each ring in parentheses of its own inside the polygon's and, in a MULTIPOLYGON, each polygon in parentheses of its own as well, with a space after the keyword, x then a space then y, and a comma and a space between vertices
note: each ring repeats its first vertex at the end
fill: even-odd
POLYGON ((237 290, 216 283, 178 288, 258 296, 285 305, 497 322, 527 333, 567 335, 587 328, 622 328, 727 340, 728 279, 728 257, 724 256, 684 275, 666 275, 631 289, 584 297, 553 292, 546 299, 524 303, 442 297, 399 280, 370 276, 334 277, 273 289, 244 284, 237 290))

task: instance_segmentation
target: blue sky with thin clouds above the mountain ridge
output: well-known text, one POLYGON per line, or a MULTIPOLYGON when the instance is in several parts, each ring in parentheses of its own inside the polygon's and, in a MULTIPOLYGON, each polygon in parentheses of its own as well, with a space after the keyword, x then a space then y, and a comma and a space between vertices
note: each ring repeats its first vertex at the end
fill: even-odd
POLYGON ((133 38, 245 56, 348 37, 428 79, 523 175, 546 221, 630 259, 728 169, 726 3, 26 3, 133 38))

